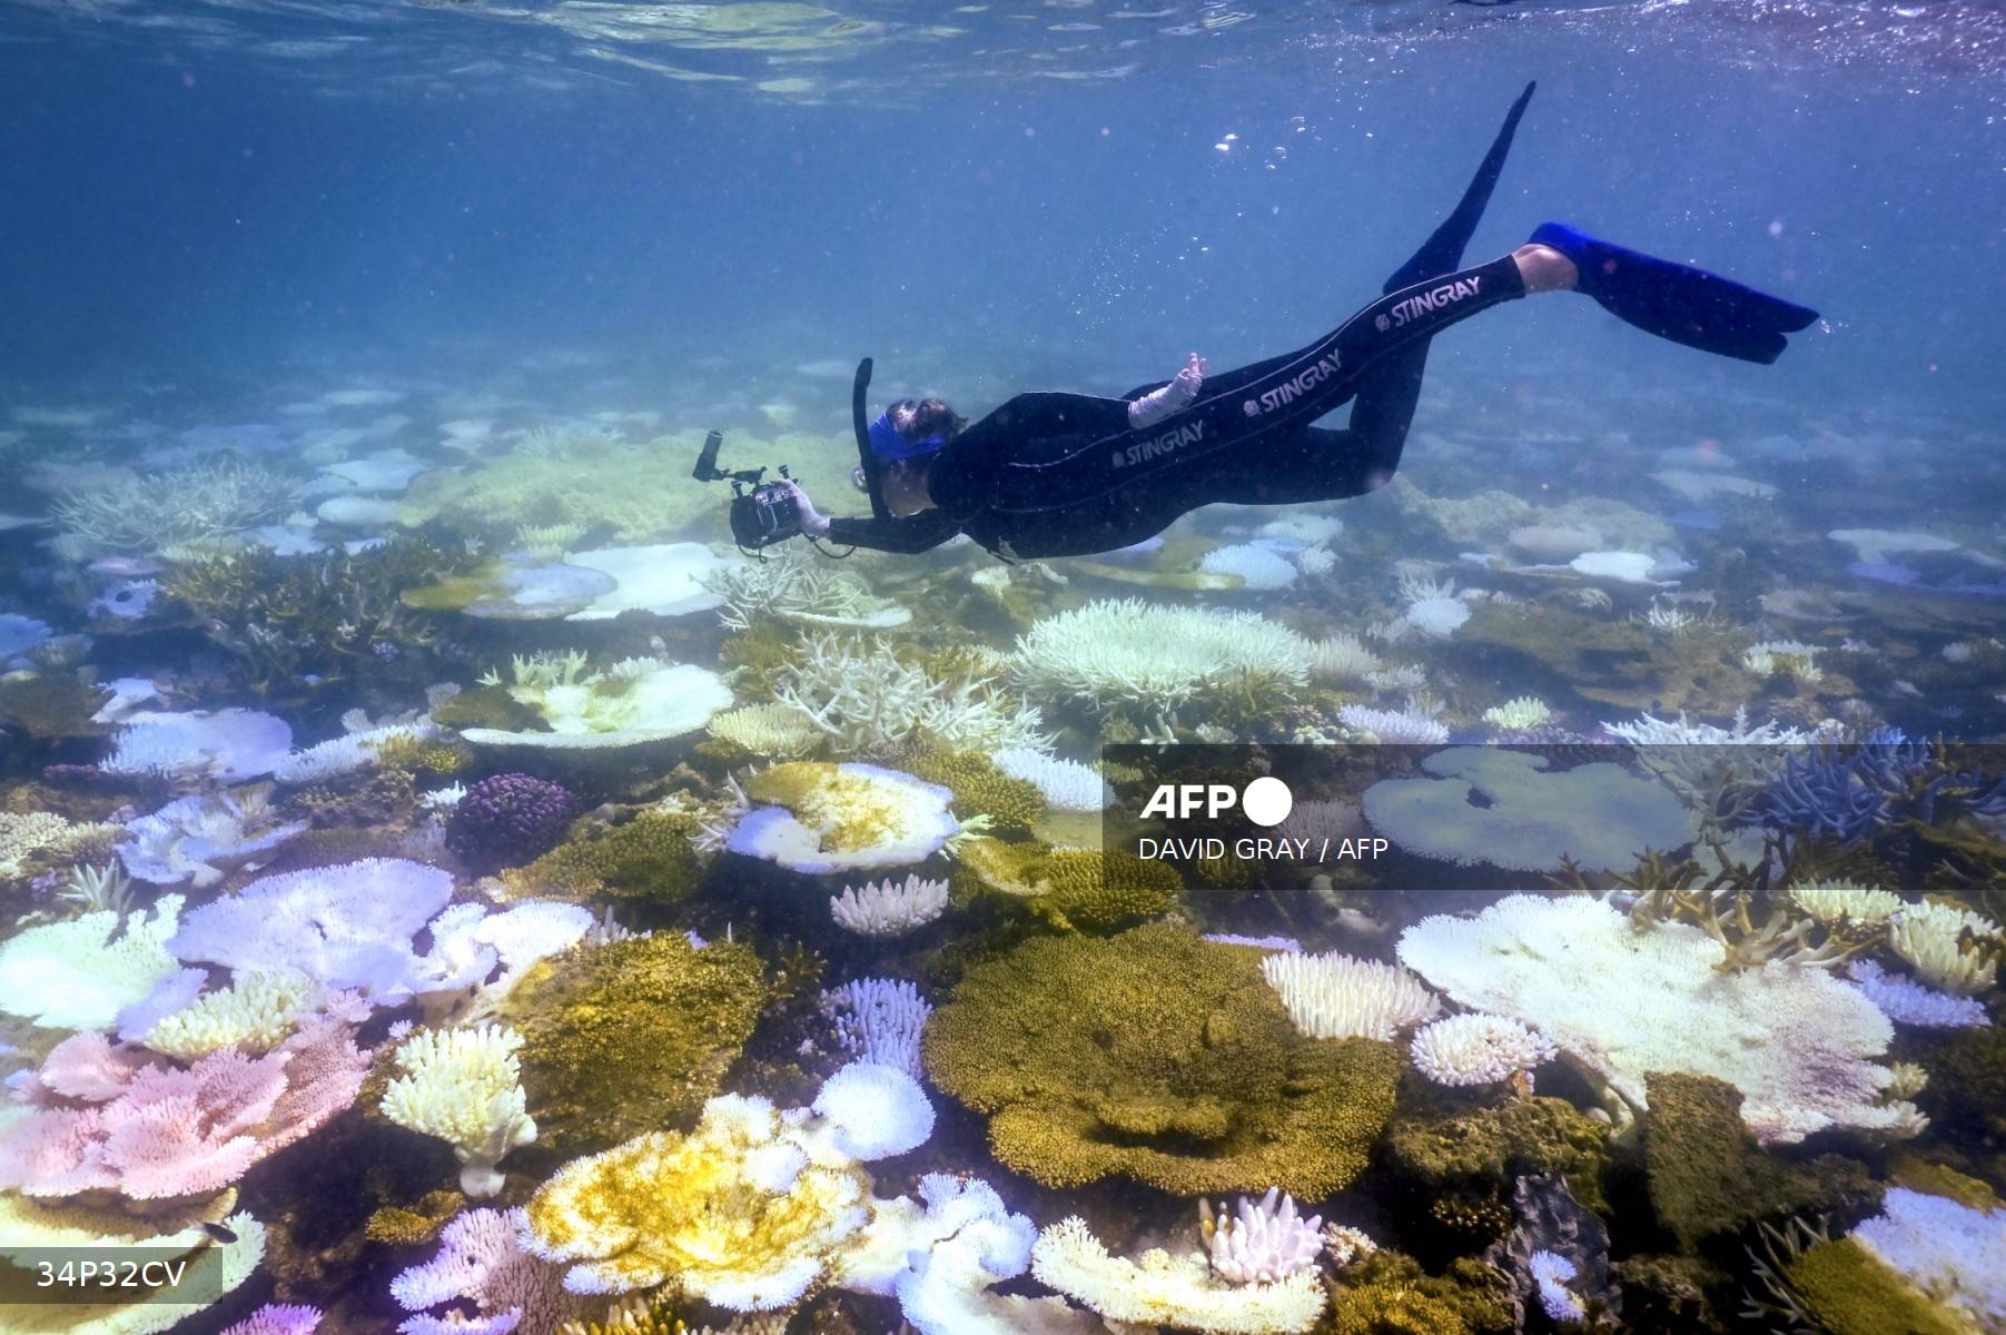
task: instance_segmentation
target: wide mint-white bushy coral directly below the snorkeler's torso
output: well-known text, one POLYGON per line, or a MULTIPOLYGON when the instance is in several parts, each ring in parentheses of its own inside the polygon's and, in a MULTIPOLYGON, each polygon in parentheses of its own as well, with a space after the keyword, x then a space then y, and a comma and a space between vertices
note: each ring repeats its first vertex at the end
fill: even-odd
POLYGON ((1176 710, 1254 676, 1282 690, 1310 680, 1310 643, 1250 611, 1099 599, 1037 621, 1017 639, 1017 680, 1037 696, 1095 708, 1176 710))

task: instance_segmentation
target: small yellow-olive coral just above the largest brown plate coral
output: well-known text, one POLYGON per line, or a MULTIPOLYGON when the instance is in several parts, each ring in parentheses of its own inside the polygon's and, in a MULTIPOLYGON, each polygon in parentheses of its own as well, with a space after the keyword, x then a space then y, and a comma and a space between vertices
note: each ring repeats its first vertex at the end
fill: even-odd
POLYGON ((1184 886, 1165 864, 1125 852, 967 840, 957 856, 991 890, 1025 900, 1067 932, 1155 918, 1176 906, 1184 886))

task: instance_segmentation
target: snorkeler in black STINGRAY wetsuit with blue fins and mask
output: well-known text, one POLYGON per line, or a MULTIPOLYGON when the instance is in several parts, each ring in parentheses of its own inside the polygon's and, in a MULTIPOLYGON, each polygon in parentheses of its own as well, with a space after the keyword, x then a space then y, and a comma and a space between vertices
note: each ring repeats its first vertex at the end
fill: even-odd
POLYGON ((873 517, 830 519, 792 487, 800 527, 853 547, 927 551, 967 533, 1005 559, 1139 543, 1210 503, 1294 505, 1362 495, 1400 465, 1428 343, 1531 293, 1583 293, 1689 347, 1773 363, 1815 311, 1719 275, 1625 251, 1561 223, 1486 265, 1458 269, 1537 84, 1527 84, 1476 176, 1384 295, 1316 343, 1208 375, 1196 353, 1169 381, 1121 399, 1023 393, 975 425, 907 399, 863 427, 859 485, 873 517), (1352 401, 1344 429, 1312 425, 1352 401))

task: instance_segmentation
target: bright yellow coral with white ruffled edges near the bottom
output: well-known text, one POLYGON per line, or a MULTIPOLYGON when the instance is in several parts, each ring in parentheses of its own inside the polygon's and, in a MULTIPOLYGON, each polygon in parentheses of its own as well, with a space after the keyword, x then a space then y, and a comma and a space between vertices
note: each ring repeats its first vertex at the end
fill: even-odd
POLYGON ((688 1135, 652 1131, 562 1167, 528 1205, 526 1241, 574 1263, 568 1283, 586 1291, 668 1285, 766 1309, 812 1283, 869 1195, 851 1161, 802 1163, 770 1102, 726 1096, 688 1135))

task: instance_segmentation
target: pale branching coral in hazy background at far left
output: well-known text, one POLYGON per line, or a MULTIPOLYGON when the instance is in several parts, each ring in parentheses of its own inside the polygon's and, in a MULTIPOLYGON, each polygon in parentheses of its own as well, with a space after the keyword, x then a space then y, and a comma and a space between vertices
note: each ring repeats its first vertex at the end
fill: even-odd
POLYGON ((237 455, 126 477, 56 501, 64 533, 104 547, 164 551, 249 529, 293 509, 299 483, 237 455))

